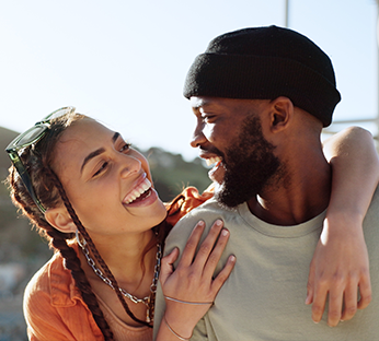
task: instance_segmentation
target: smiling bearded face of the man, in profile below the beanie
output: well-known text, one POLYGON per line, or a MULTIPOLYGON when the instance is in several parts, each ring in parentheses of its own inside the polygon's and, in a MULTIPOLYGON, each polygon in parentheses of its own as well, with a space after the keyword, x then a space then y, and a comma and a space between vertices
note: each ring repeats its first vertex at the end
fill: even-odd
POLYGON ((280 166, 275 146, 265 140, 260 113, 269 101, 192 97, 197 126, 191 142, 216 166, 216 199, 233 208, 255 198, 280 166))

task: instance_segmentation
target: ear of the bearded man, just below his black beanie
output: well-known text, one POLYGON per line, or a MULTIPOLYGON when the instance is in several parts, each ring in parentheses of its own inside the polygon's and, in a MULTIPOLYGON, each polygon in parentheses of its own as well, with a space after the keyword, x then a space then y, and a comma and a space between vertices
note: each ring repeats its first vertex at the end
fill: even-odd
POLYGON ((294 104, 284 96, 275 98, 271 104, 271 130, 275 133, 288 127, 294 117, 294 104))

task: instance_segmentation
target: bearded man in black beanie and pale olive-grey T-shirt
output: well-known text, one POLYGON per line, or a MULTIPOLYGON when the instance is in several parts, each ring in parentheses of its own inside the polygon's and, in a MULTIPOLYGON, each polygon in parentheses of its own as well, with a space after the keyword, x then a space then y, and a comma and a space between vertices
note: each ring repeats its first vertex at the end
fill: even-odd
POLYGON ((341 99, 329 57, 290 30, 231 32, 195 59, 184 95, 197 117, 192 146, 217 163, 210 176, 218 186, 215 199, 175 226, 166 252, 183 249, 199 219, 209 227, 221 217, 230 239, 218 271, 228 255, 237 257, 192 340, 378 339, 378 191, 364 222, 371 305, 329 328, 326 315, 313 324, 303 304, 331 193, 320 134, 341 99))

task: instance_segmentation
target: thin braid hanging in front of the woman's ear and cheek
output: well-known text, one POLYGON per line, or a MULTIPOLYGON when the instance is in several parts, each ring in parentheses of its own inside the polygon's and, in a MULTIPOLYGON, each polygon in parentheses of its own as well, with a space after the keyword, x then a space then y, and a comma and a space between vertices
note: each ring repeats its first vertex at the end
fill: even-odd
POLYGON ((152 328, 152 326, 143 320, 140 320, 139 318, 137 318, 130 310, 129 306, 127 305, 127 303, 125 302, 123 294, 119 291, 119 286, 117 284, 116 279, 114 278, 113 273, 111 272, 110 268, 107 267, 107 264, 105 263, 105 261, 103 260, 103 258, 100 256, 94 243, 92 242, 91 236, 88 234, 85 227, 83 226, 83 224, 81 223, 81 221, 79 220, 74 209, 71 205, 71 202, 68 200, 66 191, 64 189, 64 187, 61 186, 58 177, 54 174, 54 172, 51 169, 46 169, 46 175, 51 179, 51 181, 55 184, 56 188, 59 191, 59 195, 65 203, 65 207, 67 209, 67 211, 69 212, 73 223, 76 224, 77 228, 79 230, 79 232, 82 234, 82 236, 84 237, 85 242, 88 243, 90 250, 92 251, 93 256, 95 257, 95 259, 97 260, 97 262, 100 263, 100 266, 103 268, 105 274, 107 275, 107 278, 112 281, 112 284, 115 289, 115 292, 117 294, 117 297, 119 299, 119 302, 122 303, 125 311, 136 321, 139 322, 141 325, 148 326, 150 328, 152 328))

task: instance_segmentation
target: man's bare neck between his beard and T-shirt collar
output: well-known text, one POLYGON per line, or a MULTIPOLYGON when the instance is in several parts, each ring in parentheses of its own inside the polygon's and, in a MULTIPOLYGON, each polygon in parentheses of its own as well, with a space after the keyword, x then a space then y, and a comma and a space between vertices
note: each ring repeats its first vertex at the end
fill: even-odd
MULTIPOLYGON (((313 155, 314 156, 314 155, 313 155)), ((275 225, 297 225, 323 212, 329 204, 332 172, 323 155, 296 160, 286 175, 248 202, 259 219, 275 225)))

